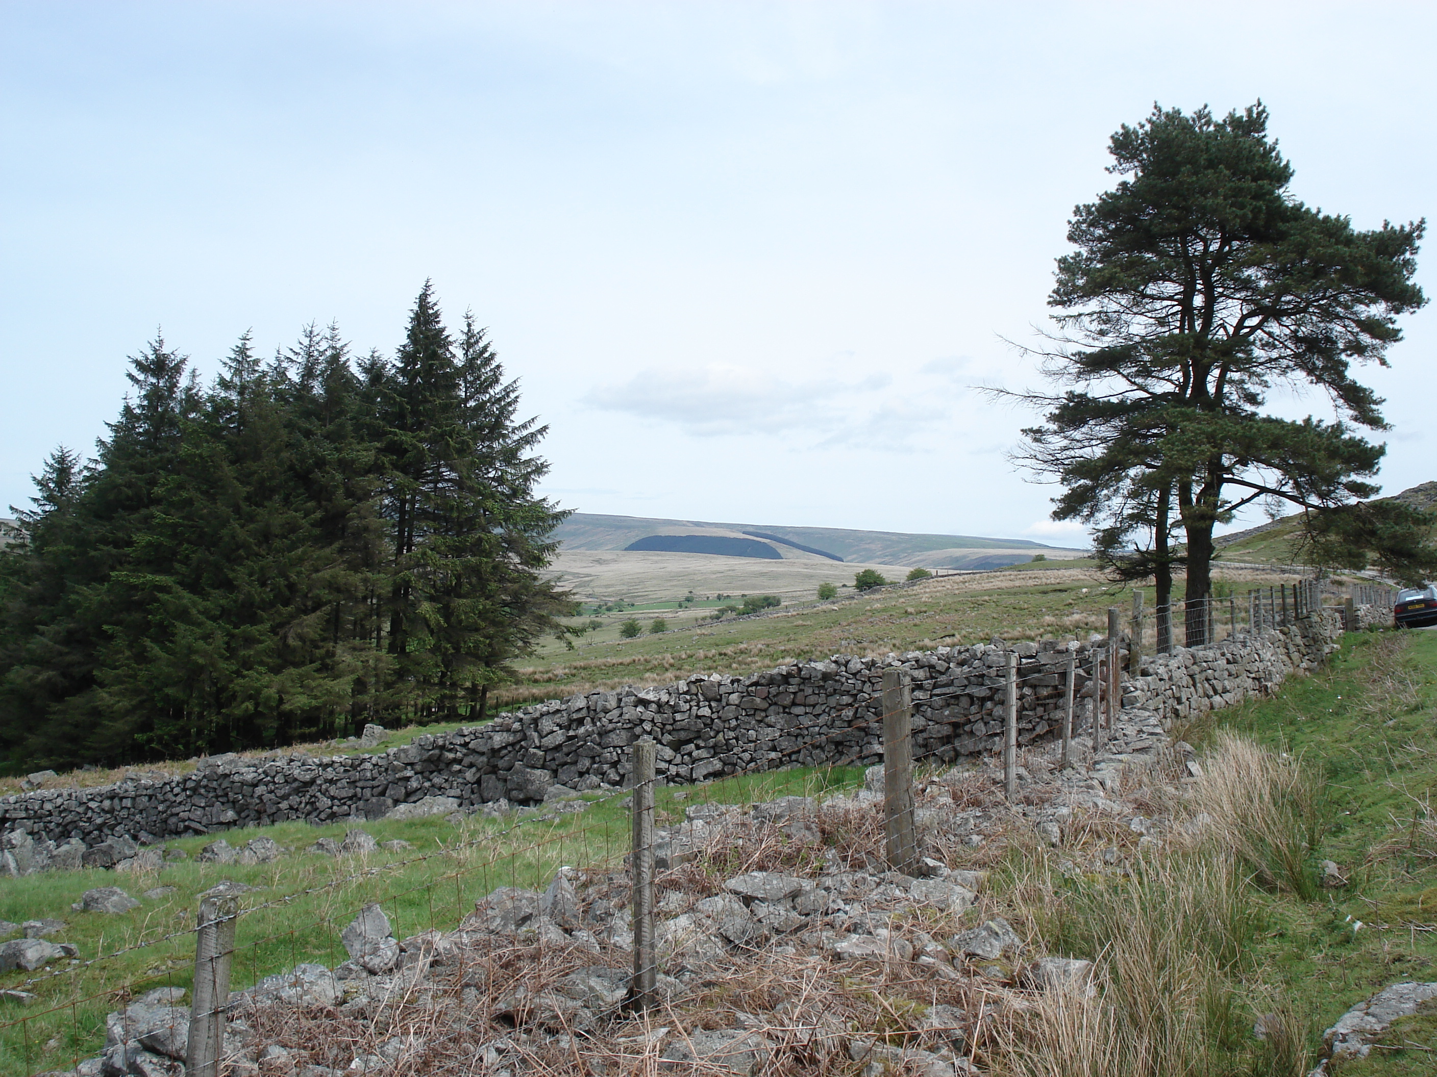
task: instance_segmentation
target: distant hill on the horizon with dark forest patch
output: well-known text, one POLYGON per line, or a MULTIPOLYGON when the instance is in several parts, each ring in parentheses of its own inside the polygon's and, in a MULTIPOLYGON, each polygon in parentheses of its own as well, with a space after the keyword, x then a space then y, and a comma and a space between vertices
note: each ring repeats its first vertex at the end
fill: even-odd
MULTIPOLYGON (((901 531, 858 531, 841 527, 785 527, 777 524, 726 524, 708 520, 661 520, 638 516, 602 516, 575 513, 555 533, 565 550, 694 550, 688 543, 658 541, 655 537, 733 538, 764 544, 785 560, 844 560, 862 564, 902 564, 925 569, 994 569, 1032 560, 1033 554, 1050 559, 1082 557, 1072 550, 1026 538, 980 538, 963 534, 904 534, 901 531), (635 546, 644 543, 644 546, 635 546)), ((706 549, 708 544, 704 544, 706 549)), ((721 544, 723 549, 747 549, 740 556, 770 557, 752 547, 721 544)), ((713 547, 720 549, 718 546, 713 547)))

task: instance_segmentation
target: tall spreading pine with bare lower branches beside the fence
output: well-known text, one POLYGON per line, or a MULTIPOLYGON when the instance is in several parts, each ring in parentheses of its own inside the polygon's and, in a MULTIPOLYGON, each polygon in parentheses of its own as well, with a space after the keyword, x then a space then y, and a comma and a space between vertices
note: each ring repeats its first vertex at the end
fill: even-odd
POLYGON ((1053 517, 1091 524, 1119 574, 1155 574, 1160 602, 1183 567, 1187 597, 1210 595, 1213 527, 1257 498, 1321 518, 1328 551, 1378 543, 1430 573, 1415 537, 1431 521, 1357 508, 1384 452, 1357 431, 1385 422, 1352 370, 1387 365, 1398 316, 1426 303, 1426 224, 1359 231, 1293 198, 1260 102, 1223 119, 1154 108, 1109 152, 1119 181, 1073 211, 1049 297, 1043 370, 1061 388, 1022 393, 1043 422, 1017 455, 1065 488, 1053 517), (1265 411, 1311 389, 1332 421, 1265 411))

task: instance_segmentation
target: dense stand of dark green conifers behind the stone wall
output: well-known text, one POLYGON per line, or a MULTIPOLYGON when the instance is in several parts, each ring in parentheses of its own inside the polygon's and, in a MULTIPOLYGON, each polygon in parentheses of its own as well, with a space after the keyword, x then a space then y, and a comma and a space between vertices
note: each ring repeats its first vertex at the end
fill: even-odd
POLYGON ((10 770, 477 721, 570 612, 546 428, 425 284, 392 359, 306 329, 213 385, 155 340, 93 461, 57 449, 0 556, 10 770))

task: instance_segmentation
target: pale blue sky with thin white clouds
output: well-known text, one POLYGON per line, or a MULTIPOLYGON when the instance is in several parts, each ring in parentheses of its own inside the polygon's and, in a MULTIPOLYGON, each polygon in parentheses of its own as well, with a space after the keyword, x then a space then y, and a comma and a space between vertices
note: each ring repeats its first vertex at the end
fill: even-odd
MULTIPOLYGON (((1042 385, 1022 346, 1109 135, 1260 98, 1298 198, 1431 215, 1434 32, 1372 1, 0 0, 0 511, 93 451, 157 332, 205 378, 246 330, 392 352, 430 279, 566 508, 1082 544, 1007 457, 1035 416, 977 386, 1042 385)), ((1388 493, 1437 478, 1437 309, 1403 325, 1364 370, 1388 493)))

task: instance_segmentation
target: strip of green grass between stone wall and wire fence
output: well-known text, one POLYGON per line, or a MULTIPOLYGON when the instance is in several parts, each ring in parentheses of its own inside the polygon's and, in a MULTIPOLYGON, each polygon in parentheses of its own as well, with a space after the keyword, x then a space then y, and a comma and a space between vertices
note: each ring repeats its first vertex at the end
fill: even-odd
MULTIPOLYGON (((740 775, 697 787, 660 788, 655 796, 661 823, 683 819, 688 804, 754 803, 782 796, 815 796, 862 781, 856 767, 803 768, 740 775)), ((583 813, 535 820, 536 810, 503 820, 470 817, 460 826, 443 819, 365 823, 381 841, 404 839, 412 849, 381 852, 365 859, 331 859, 305 853, 319 837, 342 839, 345 826, 312 827, 285 823, 221 834, 239 847, 257 834, 282 844, 289 854, 270 864, 210 864, 194 857, 216 836, 181 839, 167 849, 182 849, 188 860, 167 862, 151 876, 119 875, 98 869, 49 872, 7 879, 0 887, 0 919, 20 923, 56 918, 68 923, 53 941, 75 943, 82 961, 102 961, 59 976, 56 962, 36 972, 0 975, 0 988, 36 994, 36 1002, 0 1002, 0 1073, 26 1074, 69 1068, 76 1058, 96 1054, 105 1038, 105 1014, 122 1008, 129 997, 154 987, 188 989, 194 972, 194 913, 198 895, 221 879, 257 887, 241 899, 247 909, 236 932, 233 988, 293 968, 299 962, 338 965, 348 956, 339 933, 368 902, 379 902, 397 938, 430 928, 453 929, 473 910, 474 902, 497 886, 543 887, 562 864, 598 867, 618 864, 631 843, 631 820, 622 797, 589 797, 583 813), (533 821, 516 826, 519 819, 533 821), (422 859, 421 859, 422 857, 422 859), (172 886, 174 893, 144 900, 124 915, 70 910, 85 890, 119 886, 135 898, 172 886), (309 890, 309 893, 303 893, 309 890), (293 900, 277 902, 286 895, 293 900), (165 939, 164 936, 175 938, 165 939), (152 945, 141 945, 152 943, 152 945), (128 949, 138 946, 137 949, 128 949), (37 979, 34 984, 26 984, 37 979)))

